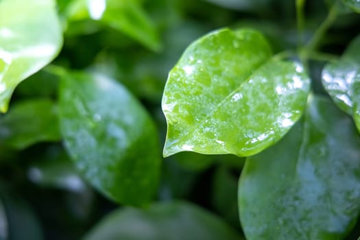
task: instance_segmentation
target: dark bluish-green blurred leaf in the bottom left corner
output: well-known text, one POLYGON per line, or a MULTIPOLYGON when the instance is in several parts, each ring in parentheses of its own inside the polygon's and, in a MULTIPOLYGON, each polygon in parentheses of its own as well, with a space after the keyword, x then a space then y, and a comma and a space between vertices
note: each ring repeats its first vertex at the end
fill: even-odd
POLYGON ((29 204, 3 186, 0 187, 0 202, 3 202, 8 221, 7 239, 43 239, 40 223, 29 204))

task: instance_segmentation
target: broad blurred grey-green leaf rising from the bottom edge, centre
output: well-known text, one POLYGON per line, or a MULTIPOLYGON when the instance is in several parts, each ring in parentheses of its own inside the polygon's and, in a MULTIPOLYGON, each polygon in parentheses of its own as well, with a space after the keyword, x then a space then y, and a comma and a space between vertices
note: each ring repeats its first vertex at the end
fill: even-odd
POLYGON ((110 213, 86 240, 239 240, 238 233, 211 213, 185 202, 158 203, 145 210, 122 208, 110 213))

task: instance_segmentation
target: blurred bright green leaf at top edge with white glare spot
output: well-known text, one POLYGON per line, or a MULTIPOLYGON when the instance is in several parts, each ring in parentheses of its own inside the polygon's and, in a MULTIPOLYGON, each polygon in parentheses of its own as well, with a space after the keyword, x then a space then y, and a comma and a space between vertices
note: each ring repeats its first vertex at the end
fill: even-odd
POLYGON ((156 29, 138 1, 77 0, 69 5, 67 14, 71 21, 101 21, 128 34, 149 49, 160 50, 156 29))

